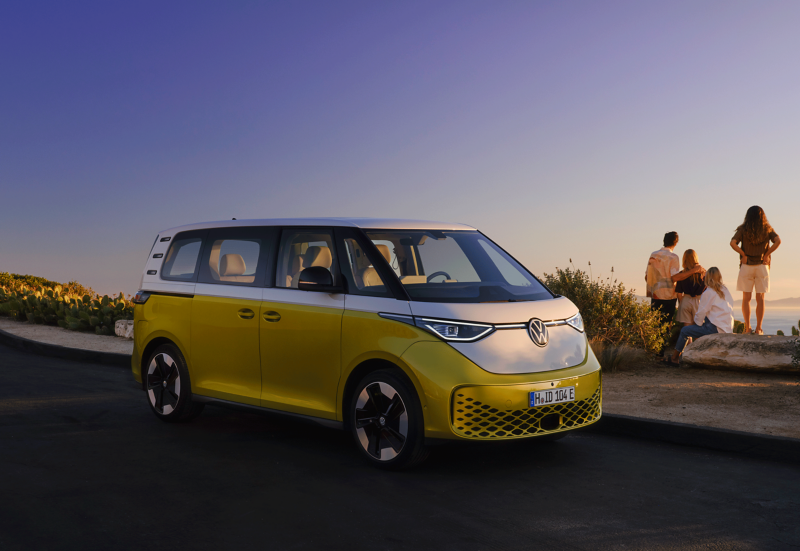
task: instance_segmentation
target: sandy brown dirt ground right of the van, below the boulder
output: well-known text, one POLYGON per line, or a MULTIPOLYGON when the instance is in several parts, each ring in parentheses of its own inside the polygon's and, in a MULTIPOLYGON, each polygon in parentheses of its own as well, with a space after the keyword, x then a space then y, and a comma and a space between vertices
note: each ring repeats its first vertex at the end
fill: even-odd
POLYGON ((603 374, 603 412, 800 438, 800 373, 661 367, 603 374))

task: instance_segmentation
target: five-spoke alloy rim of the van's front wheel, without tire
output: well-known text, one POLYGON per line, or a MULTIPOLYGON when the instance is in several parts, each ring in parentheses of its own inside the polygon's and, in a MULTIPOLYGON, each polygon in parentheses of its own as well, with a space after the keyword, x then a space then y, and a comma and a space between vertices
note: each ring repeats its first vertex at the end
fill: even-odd
POLYGON ((356 402, 355 427, 358 440, 373 458, 397 457, 408 438, 408 412, 397 390, 382 382, 364 387, 356 402))

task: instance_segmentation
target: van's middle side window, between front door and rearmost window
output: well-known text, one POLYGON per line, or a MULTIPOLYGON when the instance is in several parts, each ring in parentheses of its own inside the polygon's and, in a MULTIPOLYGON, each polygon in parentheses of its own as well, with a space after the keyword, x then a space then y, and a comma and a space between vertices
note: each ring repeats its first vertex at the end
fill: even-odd
POLYGON ((224 285, 263 283, 263 231, 252 228, 211 230, 200 262, 200 282, 224 285))

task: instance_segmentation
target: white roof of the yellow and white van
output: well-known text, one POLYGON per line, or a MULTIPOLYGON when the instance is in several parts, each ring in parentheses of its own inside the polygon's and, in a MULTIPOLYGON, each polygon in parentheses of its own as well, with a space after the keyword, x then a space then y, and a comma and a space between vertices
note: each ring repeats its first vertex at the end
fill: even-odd
POLYGON ((175 235, 189 230, 208 228, 236 228, 239 226, 336 226, 376 230, 475 230, 466 224, 431 222, 427 220, 403 220, 392 218, 265 218, 254 220, 221 220, 177 226, 159 232, 159 235, 175 235))

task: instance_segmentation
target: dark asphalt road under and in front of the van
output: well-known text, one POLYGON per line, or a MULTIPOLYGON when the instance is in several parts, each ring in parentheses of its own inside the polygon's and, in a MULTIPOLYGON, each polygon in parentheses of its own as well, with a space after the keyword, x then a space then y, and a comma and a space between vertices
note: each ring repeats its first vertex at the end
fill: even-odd
POLYGON ((800 466, 575 433, 367 466, 347 433, 150 412, 129 371, 0 346, 0 549, 797 549, 800 466))

